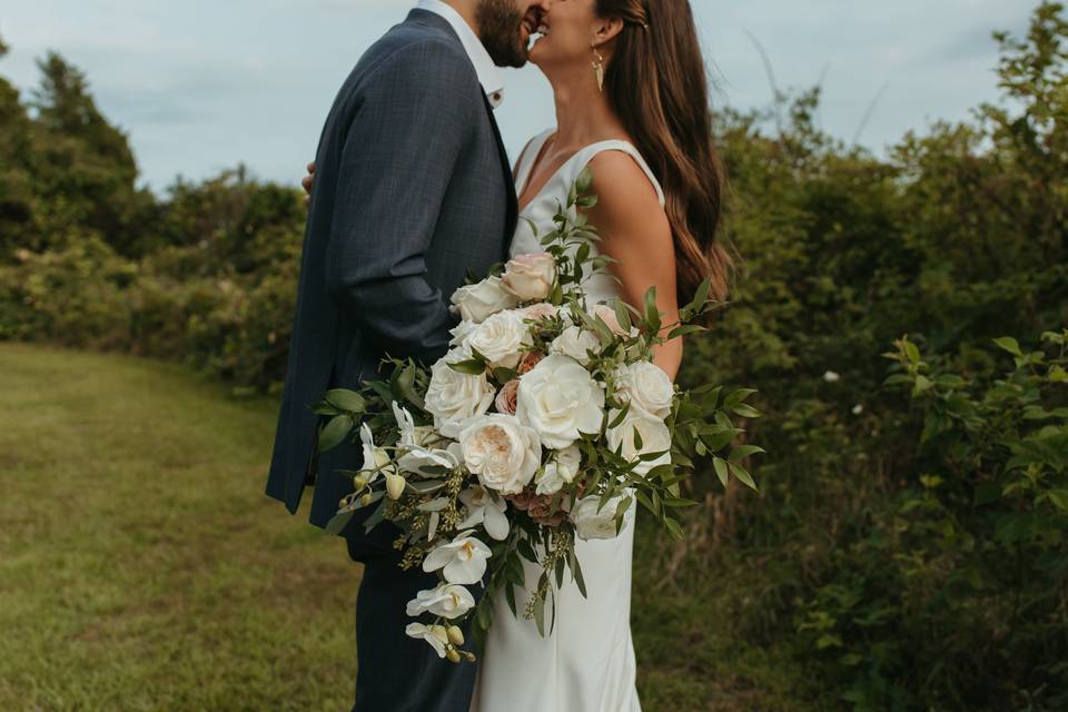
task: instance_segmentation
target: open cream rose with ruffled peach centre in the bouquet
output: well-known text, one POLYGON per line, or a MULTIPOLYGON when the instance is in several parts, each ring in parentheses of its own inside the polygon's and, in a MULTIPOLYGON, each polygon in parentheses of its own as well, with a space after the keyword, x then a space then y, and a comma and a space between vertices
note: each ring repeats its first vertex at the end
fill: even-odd
POLYGON ((459 434, 467 468, 488 490, 518 494, 542 464, 537 433, 511 415, 492 413, 469 421, 459 434))

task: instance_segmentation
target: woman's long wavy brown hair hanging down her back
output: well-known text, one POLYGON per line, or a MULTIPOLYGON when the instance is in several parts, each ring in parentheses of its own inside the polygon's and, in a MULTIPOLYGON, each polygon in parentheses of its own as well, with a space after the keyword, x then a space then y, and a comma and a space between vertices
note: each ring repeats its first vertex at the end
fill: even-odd
POLYGON ((709 85, 688 0, 596 0, 597 14, 623 30, 604 75, 612 109, 664 189, 679 301, 712 278, 711 297, 730 290, 733 260, 719 239, 725 174, 713 146, 709 85))

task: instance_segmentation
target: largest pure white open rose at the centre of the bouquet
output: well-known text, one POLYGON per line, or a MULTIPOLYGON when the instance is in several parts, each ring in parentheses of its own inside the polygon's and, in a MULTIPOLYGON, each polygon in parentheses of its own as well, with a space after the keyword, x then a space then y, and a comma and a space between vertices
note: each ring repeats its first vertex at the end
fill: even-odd
POLYGON ((583 433, 601 432, 604 392, 578 362, 550 354, 520 378, 515 415, 546 447, 563 449, 583 433))

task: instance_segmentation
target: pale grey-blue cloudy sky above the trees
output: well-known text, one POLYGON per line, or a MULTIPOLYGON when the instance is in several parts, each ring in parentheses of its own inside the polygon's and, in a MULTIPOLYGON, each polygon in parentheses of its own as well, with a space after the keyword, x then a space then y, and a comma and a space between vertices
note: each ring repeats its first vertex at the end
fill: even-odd
MULTIPOLYGON (((58 50, 82 68, 105 113, 131 137, 155 189, 244 161, 296 184, 334 95, 360 53, 414 0, 0 0, 11 53, 0 75, 23 90, 58 50)), ((1021 34, 1037 0, 693 0, 715 102, 763 107, 771 90, 755 38, 783 88, 823 79, 822 126, 880 150, 934 119, 965 119, 997 96, 990 32, 1021 34)), ((553 126, 534 67, 506 72, 498 109, 513 158, 553 126)))

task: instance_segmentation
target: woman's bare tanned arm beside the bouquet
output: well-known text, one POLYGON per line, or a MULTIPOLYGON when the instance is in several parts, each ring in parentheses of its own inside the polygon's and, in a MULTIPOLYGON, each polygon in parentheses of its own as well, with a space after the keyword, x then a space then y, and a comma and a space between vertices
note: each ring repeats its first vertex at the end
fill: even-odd
MULTIPOLYGON (((629 155, 599 154, 590 168, 597 205, 589 211, 603 241, 601 250, 617 260, 612 273, 622 283, 622 298, 641 307, 645 291, 656 287, 656 306, 664 325, 679 320, 675 289, 675 250, 671 224, 660 206, 649 177, 629 155)), ((660 346, 654 360, 672 379, 682 363, 682 339, 660 346)))

